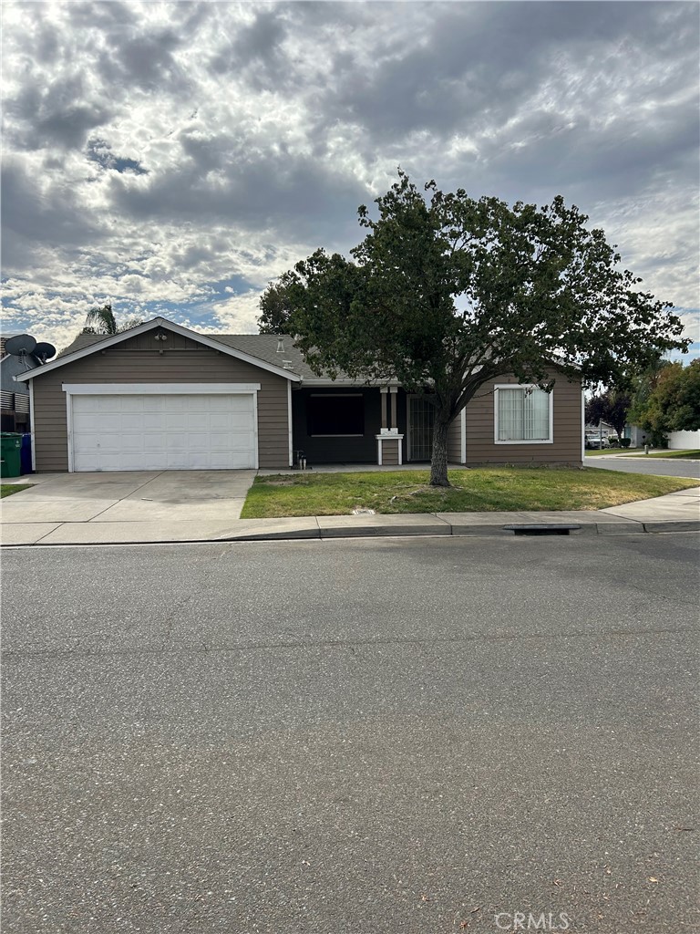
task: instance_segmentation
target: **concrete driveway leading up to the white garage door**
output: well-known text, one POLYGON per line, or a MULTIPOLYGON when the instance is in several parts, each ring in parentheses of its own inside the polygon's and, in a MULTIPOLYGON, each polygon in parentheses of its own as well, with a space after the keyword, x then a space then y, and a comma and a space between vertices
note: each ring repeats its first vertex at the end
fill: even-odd
POLYGON ((35 474, 27 478, 35 486, 2 501, 3 541, 18 545, 26 544, 27 538, 56 541, 52 533, 62 541, 88 541, 88 527, 105 522, 113 528, 115 541, 133 541, 134 535, 147 531, 146 526, 170 531, 181 541, 224 531, 240 517, 255 474, 254 470, 35 474), (15 532, 21 540, 15 541, 15 532))

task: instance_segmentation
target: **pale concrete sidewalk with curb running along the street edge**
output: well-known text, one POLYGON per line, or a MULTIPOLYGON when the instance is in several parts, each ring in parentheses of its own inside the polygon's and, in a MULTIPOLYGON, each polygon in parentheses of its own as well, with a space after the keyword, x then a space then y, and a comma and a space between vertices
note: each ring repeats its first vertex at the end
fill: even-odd
POLYGON ((2 545, 136 545, 417 535, 551 533, 623 535, 700 531, 700 488, 609 509, 576 512, 427 513, 397 516, 205 518, 159 521, 4 522, 2 545), (536 528, 532 528, 536 527, 536 528), (539 530, 539 531, 538 531, 539 530), (558 530, 558 531, 557 531, 558 530))

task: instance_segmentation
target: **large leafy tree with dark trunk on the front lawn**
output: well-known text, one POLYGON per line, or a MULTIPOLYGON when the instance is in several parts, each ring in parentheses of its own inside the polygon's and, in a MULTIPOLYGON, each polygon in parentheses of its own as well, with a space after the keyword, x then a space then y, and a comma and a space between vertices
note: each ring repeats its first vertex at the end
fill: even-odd
POLYGON ((670 304, 639 290, 587 217, 399 180, 366 206, 351 260, 319 249, 263 294, 260 329, 291 333, 316 373, 398 379, 435 405, 430 483, 449 486, 450 423, 485 382, 514 374, 613 383, 685 347, 670 304))

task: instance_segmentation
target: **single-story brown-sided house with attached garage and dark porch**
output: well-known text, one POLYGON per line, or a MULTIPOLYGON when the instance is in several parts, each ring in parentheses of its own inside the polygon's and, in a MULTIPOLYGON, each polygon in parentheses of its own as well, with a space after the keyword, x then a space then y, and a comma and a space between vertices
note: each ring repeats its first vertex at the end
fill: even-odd
MULTIPOLYGON (((432 406, 396 383, 318 377, 288 336, 164 318, 81 334, 29 375, 37 471, 284 469, 429 460, 432 406)), ((492 380, 455 419, 453 463, 580 464, 580 382, 492 380)))

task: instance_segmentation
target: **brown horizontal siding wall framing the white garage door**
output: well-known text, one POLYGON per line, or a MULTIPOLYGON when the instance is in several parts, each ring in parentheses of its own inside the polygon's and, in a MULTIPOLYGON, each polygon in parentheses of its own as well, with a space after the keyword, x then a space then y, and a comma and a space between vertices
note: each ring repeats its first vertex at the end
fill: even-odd
POLYGON ((289 466, 287 380, 168 332, 167 342, 140 334, 34 380, 37 472, 68 470, 63 383, 259 383, 261 468, 289 466), (161 354, 161 347, 165 347, 161 354))

